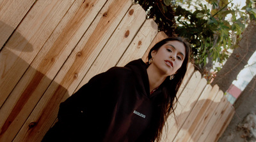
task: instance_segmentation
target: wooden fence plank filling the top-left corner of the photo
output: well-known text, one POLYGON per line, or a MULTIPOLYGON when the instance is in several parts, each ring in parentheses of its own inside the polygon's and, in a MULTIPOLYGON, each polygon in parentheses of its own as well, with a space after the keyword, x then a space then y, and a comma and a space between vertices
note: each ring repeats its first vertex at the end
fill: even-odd
POLYGON ((0 1, 0 50, 34 3, 35 0, 0 1))

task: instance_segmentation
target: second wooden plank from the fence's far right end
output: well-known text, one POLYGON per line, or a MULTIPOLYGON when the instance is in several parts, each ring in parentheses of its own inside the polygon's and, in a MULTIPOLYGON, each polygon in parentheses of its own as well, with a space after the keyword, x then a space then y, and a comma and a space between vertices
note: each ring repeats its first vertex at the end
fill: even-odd
MULTIPOLYGON (((217 122, 220 115, 223 114, 227 105, 227 97, 223 96, 221 98, 221 103, 217 106, 216 110, 214 111, 212 117, 209 120, 209 123, 205 126, 204 131, 200 134, 200 137, 196 142, 204 142, 207 136, 211 133, 212 127, 214 127, 215 123, 217 122)), ((192 139, 193 140, 193 139, 192 139)))

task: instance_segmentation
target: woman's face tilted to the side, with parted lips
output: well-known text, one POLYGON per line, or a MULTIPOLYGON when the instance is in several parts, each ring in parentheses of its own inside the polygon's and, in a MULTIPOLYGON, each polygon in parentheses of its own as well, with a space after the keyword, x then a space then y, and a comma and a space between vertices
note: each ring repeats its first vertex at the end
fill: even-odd
POLYGON ((158 50, 153 50, 154 59, 150 66, 155 66, 164 76, 170 76, 177 72, 185 59, 186 49, 180 41, 168 41, 158 50))

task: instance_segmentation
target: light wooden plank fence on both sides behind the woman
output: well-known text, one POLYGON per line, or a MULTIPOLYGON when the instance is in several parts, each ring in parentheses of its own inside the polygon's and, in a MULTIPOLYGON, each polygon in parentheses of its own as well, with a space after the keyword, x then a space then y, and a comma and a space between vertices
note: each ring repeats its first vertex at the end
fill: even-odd
MULTIPOLYGON (((81 85, 163 38, 129 0, 0 0, 0 141, 40 141, 81 85)), ((175 114, 162 141, 216 141, 234 108, 189 64, 175 114)))

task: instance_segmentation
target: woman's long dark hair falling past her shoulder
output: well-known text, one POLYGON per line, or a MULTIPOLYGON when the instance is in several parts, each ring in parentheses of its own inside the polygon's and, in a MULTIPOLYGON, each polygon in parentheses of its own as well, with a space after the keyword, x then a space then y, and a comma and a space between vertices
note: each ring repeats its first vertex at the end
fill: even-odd
POLYGON ((168 116, 173 112, 177 106, 177 92, 180 88, 180 85, 182 83, 182 80, 185 76, 185 73, 187 71, 188 62, 189 62, 189 55, 190 55, 190 44, 186 39, 180 38, 180 37, 173 37, 173 38, 166 38, 162 41, 159 41, 154 45, 150 52, 148 53, 148 60, 152 58, 151 52, 153 50, 159 50, 159 48, 167 43, 168 41, 180 41, 183 43, 183 45, 186 48, 186 55, 185 59, 183 60, 182 66, 178 69, 177 73, 175 73, 175 76, 172 80, 170 80, 170 76, 164 80, 164 82, 161 84, 161 89, 163 92, 163 96, 159 98, 159 104, 158 105, 158 111, 157 114, 155 114, 156 121, 158 123, 152 124, 153 129, 155 129, 154 132, 152 132, 150 141, 154 141, 155 139, 157 141, 160 141, 161 134, 163 132, 164 124, 168 118, 168 116), (153 134, 154 133, 154 134, 153 134))

